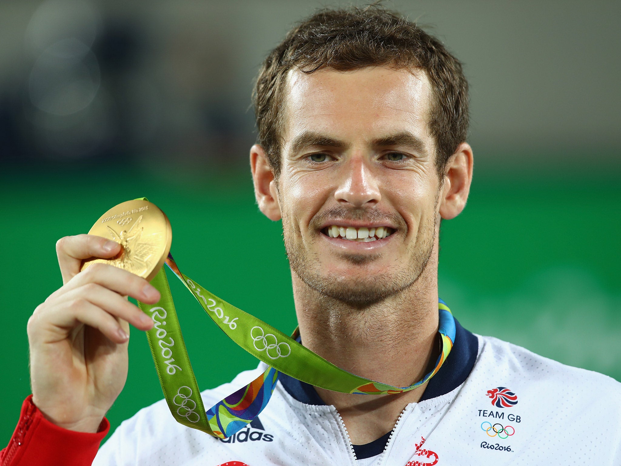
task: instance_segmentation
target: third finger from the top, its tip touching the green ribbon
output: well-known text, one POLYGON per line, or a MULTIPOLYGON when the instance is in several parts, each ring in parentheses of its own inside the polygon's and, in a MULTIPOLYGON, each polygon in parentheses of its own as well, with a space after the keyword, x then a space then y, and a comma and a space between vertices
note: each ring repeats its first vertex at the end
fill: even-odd
POLYGON ((68 303, 67 307, 70 307, 76 301, 88 301, 88 303, 97 306, 115 318, 129 322, 139 330, 147 331, 153 327, 152 319, 143 313, 138 306, 130 303, 118 293, 96 283, 88 283, 68 291, 58 299, 58 304, 68 303))

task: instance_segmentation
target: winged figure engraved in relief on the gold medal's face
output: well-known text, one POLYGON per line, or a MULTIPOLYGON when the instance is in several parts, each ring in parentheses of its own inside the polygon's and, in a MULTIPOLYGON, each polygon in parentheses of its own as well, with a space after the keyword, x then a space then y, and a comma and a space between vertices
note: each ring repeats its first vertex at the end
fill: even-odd
POLYGON ((142 215, 138 217, 129 230, 122 230, 117 233, 114 228, 107 226, 108 231, 123 250, 120 257, 116 258, 111 265, 123 268, 136 275, 142 275, 148 268, 148 260, 158 251, 156 243, 148 242, 148 239, 156 239, 159 233, 148 235, 152 238, 143 237, 144 228, 140 227, 142 215))

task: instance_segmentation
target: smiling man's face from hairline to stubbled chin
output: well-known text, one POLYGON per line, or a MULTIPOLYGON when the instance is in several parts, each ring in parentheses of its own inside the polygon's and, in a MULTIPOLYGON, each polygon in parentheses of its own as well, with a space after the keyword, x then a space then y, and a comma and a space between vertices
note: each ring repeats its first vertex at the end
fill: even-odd
POLYGON ((441 188, 430 99, 422 72, 289 75, 278 201, 291 267, 313 290, 367 306, 424 270, 441 188))

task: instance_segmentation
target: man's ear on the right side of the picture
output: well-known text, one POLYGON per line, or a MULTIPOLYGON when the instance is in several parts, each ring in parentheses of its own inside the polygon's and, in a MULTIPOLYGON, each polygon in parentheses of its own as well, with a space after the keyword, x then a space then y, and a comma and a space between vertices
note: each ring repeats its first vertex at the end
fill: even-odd
POLYGON ((446 163, 442 202, 440 203, 440 216, 443 219, 455 218, 466 207, 473 165, 472 148, 467 142, 462 142, 446 163))

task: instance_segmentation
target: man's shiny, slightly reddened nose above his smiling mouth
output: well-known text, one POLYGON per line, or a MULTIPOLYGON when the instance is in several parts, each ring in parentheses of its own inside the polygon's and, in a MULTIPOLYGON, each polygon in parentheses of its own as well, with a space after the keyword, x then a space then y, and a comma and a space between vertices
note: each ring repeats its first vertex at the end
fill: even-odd
POLYGON ((378 181, 362 154, 353 155, 342 166, 343 176, 334 196, 340 204, 351 207, 374 206, 381 200, 378 181))

